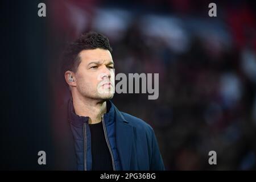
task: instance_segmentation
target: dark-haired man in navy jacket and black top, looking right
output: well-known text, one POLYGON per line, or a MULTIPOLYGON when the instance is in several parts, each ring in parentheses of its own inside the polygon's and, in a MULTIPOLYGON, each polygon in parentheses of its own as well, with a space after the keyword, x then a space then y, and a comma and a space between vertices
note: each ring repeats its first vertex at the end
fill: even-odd
POLYGON ((81 35, 65 52, 63 73, 71 99, 57 120, 57 169, 164 170, 152 128, 110 101, 111 53, 108 38, 96 32, 81 35))

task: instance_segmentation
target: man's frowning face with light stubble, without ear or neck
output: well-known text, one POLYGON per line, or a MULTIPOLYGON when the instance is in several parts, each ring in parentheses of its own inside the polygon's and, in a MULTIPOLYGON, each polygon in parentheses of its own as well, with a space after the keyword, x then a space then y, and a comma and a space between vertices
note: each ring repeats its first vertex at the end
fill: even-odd
POLYGON ((110 100, 114 96, 114 63, 105 49, 80 52, 81 62, 75 73, 77 91, 84 97, 110 100))

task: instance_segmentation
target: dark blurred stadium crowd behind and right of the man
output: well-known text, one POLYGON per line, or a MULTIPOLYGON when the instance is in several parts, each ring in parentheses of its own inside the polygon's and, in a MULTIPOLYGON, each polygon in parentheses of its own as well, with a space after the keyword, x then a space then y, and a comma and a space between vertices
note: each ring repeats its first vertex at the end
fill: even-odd
POLYGON ((202 1, 132 2, 52 2, 55 40, 98 31, 110 39, 116 73, 159 73, 158 100, 115 94, 113 102, 153 127, 166 169, 256 169, 255 9, 217 3, 210 18, 202 1))

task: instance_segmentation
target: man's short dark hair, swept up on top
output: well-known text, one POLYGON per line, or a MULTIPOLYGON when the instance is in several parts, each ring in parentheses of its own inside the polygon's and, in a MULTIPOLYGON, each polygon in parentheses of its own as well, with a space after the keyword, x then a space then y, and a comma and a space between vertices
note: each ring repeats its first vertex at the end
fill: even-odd
POLYGON ((82 34, 75 40, 75 42, 70 43, 65 49, 62 56, 61 73, 64 75, 68 70, 76 72, 81 63, 79 53, 82 50, 96 48, 106 49, 112 53, 109 39, 106 36, 97 32, 87 32, 82 34))

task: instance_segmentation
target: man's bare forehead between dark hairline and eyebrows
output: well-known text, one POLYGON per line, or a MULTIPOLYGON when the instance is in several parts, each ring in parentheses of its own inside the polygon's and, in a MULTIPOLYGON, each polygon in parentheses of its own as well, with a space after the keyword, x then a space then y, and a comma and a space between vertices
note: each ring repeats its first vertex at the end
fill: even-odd
POLYGON ((88 49, 80 52, 81 63, 89 63, 90 61, 112 61, 112 55, 109 50, 97 48, 88 49))

